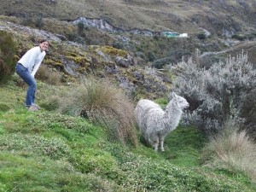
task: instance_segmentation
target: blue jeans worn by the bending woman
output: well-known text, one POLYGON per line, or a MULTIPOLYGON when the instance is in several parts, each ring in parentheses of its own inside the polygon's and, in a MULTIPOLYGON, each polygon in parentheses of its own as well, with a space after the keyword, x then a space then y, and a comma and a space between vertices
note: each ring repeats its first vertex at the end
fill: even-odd
POLYGON ((20 63, 17 63, 16 65, 16 73, 26 82, 26 84, 28 84, 25 105, 26 107, 30 107, 33 103, 35 103, 35 95, 37 90, 36 80, 32 77, 31 73, 28 72, 27 68, 20 63))

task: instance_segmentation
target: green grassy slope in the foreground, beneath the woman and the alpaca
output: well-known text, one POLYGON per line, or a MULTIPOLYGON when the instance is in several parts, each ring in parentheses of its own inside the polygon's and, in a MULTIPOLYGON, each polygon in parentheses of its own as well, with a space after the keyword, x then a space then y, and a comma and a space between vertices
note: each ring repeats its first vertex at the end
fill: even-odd
MULTIPOLYGON (((64 90, 40 81, 38 89, 38 103, 64 90)), ((0 191, 256 189, 240 173, 202 167, 205 138, 195 128, 178 127, 166 137, 166 152, 155 153, 143 143, 134 148, 111 142, 106 129, 80 117, 44 108, 29 112, 25 91, 14 80, 0 89, 1 102, 9 106, 0 112, 0 191)))

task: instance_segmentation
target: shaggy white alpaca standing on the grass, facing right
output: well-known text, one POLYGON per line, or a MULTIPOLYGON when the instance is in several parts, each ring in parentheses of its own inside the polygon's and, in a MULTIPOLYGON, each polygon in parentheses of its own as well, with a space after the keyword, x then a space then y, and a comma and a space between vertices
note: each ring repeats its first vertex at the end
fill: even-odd
POLYGON ((189 107, 189 102, 182 96, 172 92, 172 100, 167 104, 165 111, 158 104, 148 99, 140 100, 135 108, 137 125, 141 134, 154 151, 164 149, 164 139, 167 134, 175 130, 181 119, 183 109, 189 107))

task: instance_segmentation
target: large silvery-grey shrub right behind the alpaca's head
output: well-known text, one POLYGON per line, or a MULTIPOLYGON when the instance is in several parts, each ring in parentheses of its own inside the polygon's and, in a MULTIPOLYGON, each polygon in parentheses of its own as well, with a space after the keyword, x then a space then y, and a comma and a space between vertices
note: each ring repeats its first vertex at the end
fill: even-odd
POLYGON ((190 104, 190 113, 184 116, 190 124, 210 134, 223 127, 230 117, 237 123, 243 121, 241 109, 247 93, 256 86, 256 70, 246 54, 214 63, 208 70, 189 60, 180 63, 176 72, 177 92, 190 104))

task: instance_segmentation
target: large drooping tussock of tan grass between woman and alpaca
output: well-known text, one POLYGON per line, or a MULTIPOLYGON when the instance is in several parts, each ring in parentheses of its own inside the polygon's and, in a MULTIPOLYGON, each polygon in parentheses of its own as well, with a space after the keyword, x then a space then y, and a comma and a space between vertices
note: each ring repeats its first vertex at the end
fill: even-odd
POLYGON ((134 106, 121 89, 108 81, 91 79, 73 89, 70 97, 62 103, 62 112, 79 114, 106 127, 112 140, 137 146, 134 106))

